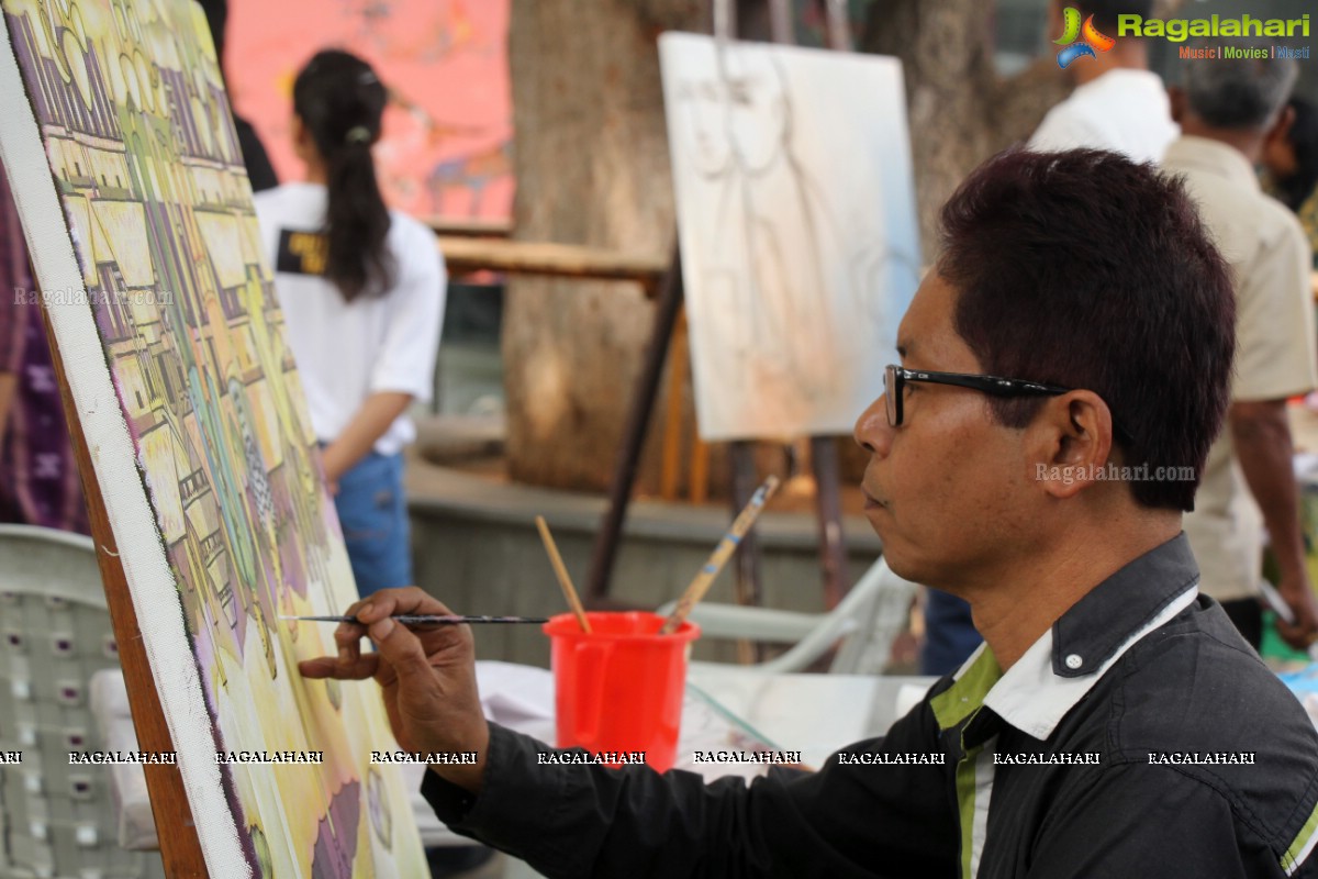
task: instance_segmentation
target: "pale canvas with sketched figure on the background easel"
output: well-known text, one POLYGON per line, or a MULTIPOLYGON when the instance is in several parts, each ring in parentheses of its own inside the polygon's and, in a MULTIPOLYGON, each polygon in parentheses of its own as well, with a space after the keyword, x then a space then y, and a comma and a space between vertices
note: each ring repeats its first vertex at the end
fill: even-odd
POLYGON ((659 40, 706 440, 850 434, 920 245, 894 58, 659 40))

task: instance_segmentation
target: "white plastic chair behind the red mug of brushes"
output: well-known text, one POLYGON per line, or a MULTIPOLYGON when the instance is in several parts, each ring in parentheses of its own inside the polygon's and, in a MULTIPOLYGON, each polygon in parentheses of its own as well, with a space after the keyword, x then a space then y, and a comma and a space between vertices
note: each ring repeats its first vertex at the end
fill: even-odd
MULTIPOLYGON (((911 602, 919 588, 892 573, 888 563, 879 559, 857 580, 837 608, 828 613, 701 602, 691 611, 689 619, 700 623, 705 638, 745 638, 793 644, 774 659, 747 667, 755 671, 804 671, 841 640, 829 667, 830 672, 879 675, 888 666, 892 642, 907 627, 911 602)), ((659 613, 671 613, 675 604, 668 602, 659 613)))

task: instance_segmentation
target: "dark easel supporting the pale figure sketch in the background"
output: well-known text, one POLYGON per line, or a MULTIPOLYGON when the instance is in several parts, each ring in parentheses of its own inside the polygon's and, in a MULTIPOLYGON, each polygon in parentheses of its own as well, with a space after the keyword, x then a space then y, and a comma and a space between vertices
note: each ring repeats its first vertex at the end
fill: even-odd
MULTIPOLYGON (((850 49, 845 0, 820 1, 824 4, 828 14, 829 47, 834 50, 850 49)), ((768 9, 770 30, 774 42, 795 42, 791 3, 788 0, 768 0, 768 9)), ((728 38, 734 33, 745 36, 737 26, 733 0, 713 0, 712 12, 716 37, 728 38)), ((655 407, 655 397, 659 390, 659 380, 663 374, 664 358, 670 348, 673 347, 673 331, 677 327, 681 302, 681 254, 675 246, 668 274, 664 279, 663 293, 659 297, 654 331, 650 337, 650 347, 646 351, 646 361, 641 377, 637 380, 637 390, 633 395, 631 409, 627 412, 622 448, 618 452, 614 465, 613 481, 609 490, 609 511, 596 535, 594 550, 590 557, 587 596, 594 604, 598 604, 609 593, 609 580, 613 573, 614 559, 617 557, 622 522, 626 518, 627 505, 631 499, 637 467, 641 460, 641 448, 650 424, 650 415, 655 407)), ((684 352, 679 351, 675 356, 684 356, 684 352)), ((683 368, 673 364, 675 377, 683 372, 683 368)), ((670 430, 672 430, 672 418, 670 418, 670 430)), ((670 448, 675 447, 673 443, 668 445, 670 448)), ((731 469, 731 510, 733 515, 735 515, 750 499, 758 484, 751 457, 751 443, 746 440, 730 443, 729 461, 731 469)), ((846 547, 842 543, 838 460, 833 438, 811 438, 811 468, 817 492, 816 513, 820 535, 820 565, 824 573, 824 601, 829 608, 833 608, 842 600, 845 593, 844 584, 846 581, 846 547)), ((746 534, 741 547, 738 547, 734 569, 737 572, 738 604, 759 605, 759 542, 754 528, 746 534)))

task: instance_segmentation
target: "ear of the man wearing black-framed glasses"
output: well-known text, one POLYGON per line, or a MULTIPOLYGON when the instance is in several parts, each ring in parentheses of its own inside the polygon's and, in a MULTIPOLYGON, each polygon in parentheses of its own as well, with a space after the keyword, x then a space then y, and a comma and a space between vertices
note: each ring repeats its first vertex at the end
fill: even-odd
POLYGON ((1091 390, 1049 398, 1027 428, 1035 478, 1056 498, 1104 481, 1112 455, 1112 412, 1091 390))

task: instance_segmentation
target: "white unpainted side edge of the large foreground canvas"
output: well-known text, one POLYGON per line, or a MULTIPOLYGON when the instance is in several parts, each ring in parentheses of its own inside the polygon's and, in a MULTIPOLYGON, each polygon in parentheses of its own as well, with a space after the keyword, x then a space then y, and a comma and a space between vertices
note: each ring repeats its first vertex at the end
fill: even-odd
MULTIPOLYGON (((0 158, 20 208, 24 236, 40 278, 37 283, 40 287, 42 281, 47 281, 47 289, 84 294, 82 269, 72 250, 45 142, 28 100, 7 25, 0 26, 0 115, 5 120, 0 125, 0 158)), ((9 293, 0 290, 0 295, 9 293)), ((192 646, 185 634, 182 602, 137 468, 128 423, 111 381, 91 308, 69 299, 75 298, 47 306, 46 311, 119 547, 152 679, 161 695, 165 722, 179 755, 178 767, 207 868, 212 875, 250 878, 252 867, 237 833, 239 816, 229 809, 220 767, 215 762, 210 713, 192 646), (179 663, 178 656, 182 655, 188 662, 179 663), (196 718, 206 718, 203 734, 196 733, 196 718), (215 821, 196 818, 214 814, 228 814, 231 821, 219 826, 215 821)))

